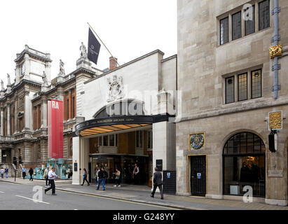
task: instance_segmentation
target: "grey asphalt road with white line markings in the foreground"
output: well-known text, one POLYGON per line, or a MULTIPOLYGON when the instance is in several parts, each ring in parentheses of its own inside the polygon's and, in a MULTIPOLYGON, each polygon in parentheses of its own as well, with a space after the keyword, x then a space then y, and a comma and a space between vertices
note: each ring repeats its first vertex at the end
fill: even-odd
POLYGON ((28 186, 15 183, 0 183, 0 204, 2 209, 25 210, 169 210, 137 202, 127 202, 104 197, 68 193, 56 189, 44 194, 42 186, 28 186), (41 198, 42 197, 42 198, 41 198))

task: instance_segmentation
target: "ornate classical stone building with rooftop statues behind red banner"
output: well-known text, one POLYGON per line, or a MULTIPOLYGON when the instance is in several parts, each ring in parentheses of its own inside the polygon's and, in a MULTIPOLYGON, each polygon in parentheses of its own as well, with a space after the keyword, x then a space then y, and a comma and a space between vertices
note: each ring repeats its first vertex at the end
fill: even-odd
POLYGON ((81 57, 76 70, 65 75, 63 63, 60 73, 50 80, 50 54, 29 48, 17 54, 15 59, 15 82, 4 89, 1 82, 1 137, 0 164, 10 167, 13 158, 21 160, 20 168, 46 166, 48 162, 48 111, 47 102, 57 97, 64 102, 64 158, 71 165, 72 127, 76 124, 76 83, 85 76, 92 78, 102 71, 85 62, 81 57))

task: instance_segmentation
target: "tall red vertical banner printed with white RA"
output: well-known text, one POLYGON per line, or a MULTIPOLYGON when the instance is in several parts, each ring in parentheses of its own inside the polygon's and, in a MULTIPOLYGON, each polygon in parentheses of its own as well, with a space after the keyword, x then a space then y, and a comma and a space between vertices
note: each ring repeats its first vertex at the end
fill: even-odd
POLYGON ((63 102, 48 101, 48 157, 63 158, 63 102))

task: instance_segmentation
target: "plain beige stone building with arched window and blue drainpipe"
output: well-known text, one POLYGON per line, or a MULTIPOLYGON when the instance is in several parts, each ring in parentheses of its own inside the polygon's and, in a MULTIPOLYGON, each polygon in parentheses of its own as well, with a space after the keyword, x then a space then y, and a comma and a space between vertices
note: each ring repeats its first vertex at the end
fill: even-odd
POLYGON ((254 200, 287 205, 288 1, 179 0, 177 13, 177 194, 242 200, 251 186, 254 200))

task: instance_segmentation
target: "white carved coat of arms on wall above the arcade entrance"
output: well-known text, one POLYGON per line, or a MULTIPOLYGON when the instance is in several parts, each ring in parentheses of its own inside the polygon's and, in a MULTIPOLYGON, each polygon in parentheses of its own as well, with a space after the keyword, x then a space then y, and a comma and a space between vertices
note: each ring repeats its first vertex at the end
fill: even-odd
POLYGON ((124 97, 123 94, 123 78, 122 76, 113 76, 113 79, 107 78, 107 83, 109 86, 109 94, 107 102, 112 102, 116 99, 121 99, 124 97))

